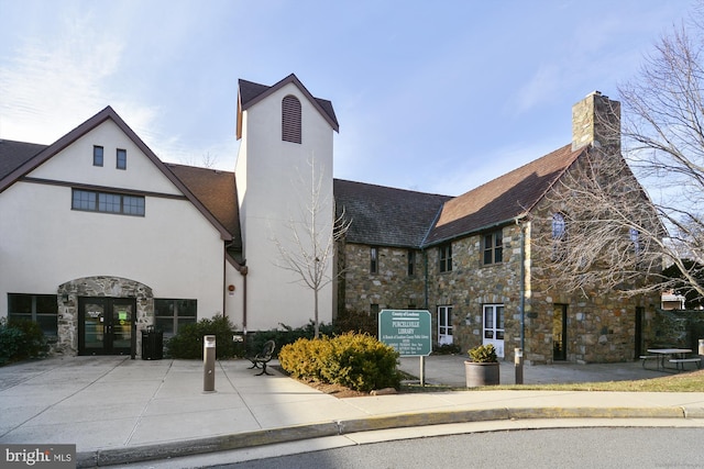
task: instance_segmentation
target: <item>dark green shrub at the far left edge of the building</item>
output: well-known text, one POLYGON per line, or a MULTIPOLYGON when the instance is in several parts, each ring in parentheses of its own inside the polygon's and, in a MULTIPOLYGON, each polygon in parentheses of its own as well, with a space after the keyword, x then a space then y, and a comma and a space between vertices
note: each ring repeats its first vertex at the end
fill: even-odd
POLYGON ((0 365, 44 357, 47 351, 46 338, 37 323, 4 319, 0 322, 0 365))

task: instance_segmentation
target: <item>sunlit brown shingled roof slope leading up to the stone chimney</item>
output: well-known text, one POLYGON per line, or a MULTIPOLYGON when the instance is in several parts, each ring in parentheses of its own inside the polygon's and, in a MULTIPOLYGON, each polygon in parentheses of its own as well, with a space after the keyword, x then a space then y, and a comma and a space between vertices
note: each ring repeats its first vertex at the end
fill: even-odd
POLYGON ((588 147, 565 145, 448 201, 426 244, 465 236, 525 216, 588 147))

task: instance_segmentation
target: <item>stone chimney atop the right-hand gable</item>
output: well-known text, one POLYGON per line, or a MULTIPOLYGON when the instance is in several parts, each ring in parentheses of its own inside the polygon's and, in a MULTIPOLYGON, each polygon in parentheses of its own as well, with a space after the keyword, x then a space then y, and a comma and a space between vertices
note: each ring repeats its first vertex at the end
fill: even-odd
POLYGON ((572 107, 572 149, 593 144, 620 153, 620 102, 594 91, 572 107))

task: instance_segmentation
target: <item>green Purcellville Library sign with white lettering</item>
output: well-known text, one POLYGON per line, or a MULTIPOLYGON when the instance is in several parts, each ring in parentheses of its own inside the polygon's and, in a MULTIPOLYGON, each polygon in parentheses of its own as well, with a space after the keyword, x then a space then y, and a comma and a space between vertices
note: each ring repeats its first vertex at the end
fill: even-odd
POLYGON ((430 312, 382 310, 378 313, 378 339, 404 357, 430 355, 430 312))

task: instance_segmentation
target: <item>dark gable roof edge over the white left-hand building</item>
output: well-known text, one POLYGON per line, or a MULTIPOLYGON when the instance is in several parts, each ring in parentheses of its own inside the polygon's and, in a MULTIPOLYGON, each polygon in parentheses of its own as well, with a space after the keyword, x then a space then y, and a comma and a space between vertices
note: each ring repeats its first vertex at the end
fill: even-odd
MULTIPOLYGON (((130 129, 130 126, 118 115, 111 107, 107 107, 92 118, 78 125, 76 129, 54 142, 48 146, 32 145, 32 144, 19 144, 16 142, 9 145, 0 145, 0 168, 10 168, 6 171, 0 169, 0 193, 11 187, 22 177, 37 168, 43 163, 68 147, 78 138, 88 134, 103 122, 111 120, 120 127, 122 132, 142 150, 142 153, 158 168, 166 178, 168 178, 178 190, 210 221, 210 223, 220 232, 220 236, 223 241, 232 241, 232 233, 226 228, 226 226, 206 208, 206 205, 198 200, 198 198, 190 191, 190 189, 182 182, 176 175, 166 167, 164 163, 146 146, 144 142, 130 129), (34 149, 38 149, 37 153, 33 153, 34 149), (7 150, 7 154, 6 154, 7 150)), ((8 141, 4 141, 8 142, 8 141)), ((237 205, 237 204, 235 204, 237 205)))

